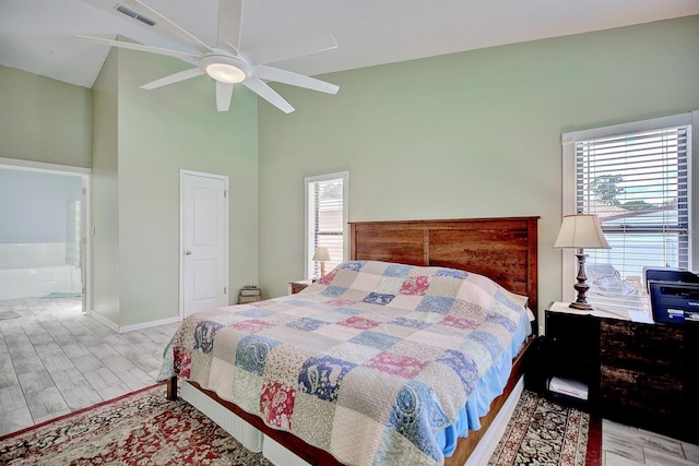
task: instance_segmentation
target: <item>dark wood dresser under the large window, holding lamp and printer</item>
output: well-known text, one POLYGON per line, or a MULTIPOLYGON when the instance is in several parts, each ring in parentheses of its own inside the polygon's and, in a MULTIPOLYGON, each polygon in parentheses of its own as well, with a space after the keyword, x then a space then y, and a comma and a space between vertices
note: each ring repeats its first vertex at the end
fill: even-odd
MULTIPOLYGON (((549 307, 550 308, 550 307, 549 307)), ((628 426, 699 443, 699 322, 640 323, 546 310, 547 375, 589 386, 587 406, 628 426)))

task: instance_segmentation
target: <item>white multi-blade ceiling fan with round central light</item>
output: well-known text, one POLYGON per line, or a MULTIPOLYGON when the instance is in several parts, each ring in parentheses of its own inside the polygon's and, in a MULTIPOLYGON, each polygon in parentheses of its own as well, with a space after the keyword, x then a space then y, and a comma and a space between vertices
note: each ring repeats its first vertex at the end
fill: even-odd
POLYGON ((266 65, 289 58, 334 49, 337 47, 337 43, 333 36, 260 50, 240 50, 242 0, 220 0, 217 44, 215 46, 203 43, 139 0, 118 0, 119 3, 114 8, 105 4, 105 0, 86 1, 110 13, 129 16, 144 27, 157 25, 158 29, 171 36, 180 47, 173 50, 102 37, 78 37, 109 46, 175 57, 196 65, 196 68, 143 84, 141 87, 144 89, 154 89, 208 74, 216 83, 216 109, 218 111, 227 111, 230 108, 234 85, 242 84, 285 113, 294 111, 294 107, 266 82, 279 82, 328 94, 336 94, 340 89, 335 84, 266 65))

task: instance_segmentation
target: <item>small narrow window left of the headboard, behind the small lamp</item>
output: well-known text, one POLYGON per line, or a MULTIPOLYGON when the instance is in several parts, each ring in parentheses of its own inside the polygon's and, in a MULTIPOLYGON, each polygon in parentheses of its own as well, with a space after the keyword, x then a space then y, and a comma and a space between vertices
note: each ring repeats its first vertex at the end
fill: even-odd
POLYGON ((320 276, 316 248, 330 252, 325 273, 345 259, 348 178, 347 171, 306 178, 306 278, 320 276))

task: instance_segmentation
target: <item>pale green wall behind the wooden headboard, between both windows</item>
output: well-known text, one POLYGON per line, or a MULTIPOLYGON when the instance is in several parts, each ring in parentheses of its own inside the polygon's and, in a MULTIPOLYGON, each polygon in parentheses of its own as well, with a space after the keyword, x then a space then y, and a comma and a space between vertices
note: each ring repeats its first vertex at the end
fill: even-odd
MULTIPOLYGON (((340 44, 342 47, 342 44, 340 44)), ((561 296, 561 132, 699 108, 699 16, 332 73, 260 103, 260 271, 304 274, 304 177, 350 171, 350 220, 537 215, 561 296)), ((570 277, 570 285, 574 277, 570 277)))

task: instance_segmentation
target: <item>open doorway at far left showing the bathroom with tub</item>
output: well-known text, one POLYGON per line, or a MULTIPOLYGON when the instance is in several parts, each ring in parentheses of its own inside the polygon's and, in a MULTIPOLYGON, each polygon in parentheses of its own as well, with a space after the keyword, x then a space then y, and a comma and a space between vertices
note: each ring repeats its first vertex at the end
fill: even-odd
POLYGON ((75 298, 90 312, 90 174, 0 158, 0 300, 75 298))

